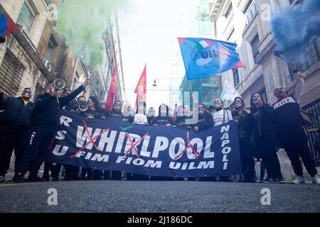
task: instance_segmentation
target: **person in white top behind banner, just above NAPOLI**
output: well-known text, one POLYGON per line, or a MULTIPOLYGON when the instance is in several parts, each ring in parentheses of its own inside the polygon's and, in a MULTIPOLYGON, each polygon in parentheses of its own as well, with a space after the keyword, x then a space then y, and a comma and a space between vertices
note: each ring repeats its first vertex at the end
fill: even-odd
POLYGON ((212 115, 214 126, 220 126, 223 123, 233 121, 231 111, 223 109, 223 101, 221 99, 215 99, 213 101, 213 107, 215 108, 215 112, 212 115))

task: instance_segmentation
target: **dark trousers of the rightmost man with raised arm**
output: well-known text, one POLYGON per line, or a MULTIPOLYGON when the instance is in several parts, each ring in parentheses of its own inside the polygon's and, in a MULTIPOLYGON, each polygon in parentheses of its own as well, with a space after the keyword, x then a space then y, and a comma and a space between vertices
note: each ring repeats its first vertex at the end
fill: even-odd
POLYGON ((297 176, 302 176, 302 162, 304 162, 304 167, 306 171, 314 177, 316 175, 316 166, 308 146, 308 138, 303 127, 295 128, 280 133, 281 143, 286 151, 294 173, 297 176))

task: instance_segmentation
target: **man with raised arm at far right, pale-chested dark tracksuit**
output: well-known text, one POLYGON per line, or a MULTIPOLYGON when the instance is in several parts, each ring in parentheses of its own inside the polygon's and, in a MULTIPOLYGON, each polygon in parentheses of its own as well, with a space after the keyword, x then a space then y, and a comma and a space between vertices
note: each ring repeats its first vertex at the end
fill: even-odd
POLYGON ((313 184, 320 184, 316 165, 308 145, 308 136, 304 130, 304 123, 300 112, 299 99, 304 87, 304 74, 298 71, 297 65, 290 62, 289 66, 294 72, 294 91, 287 94, 281 86, 274 88, 277 101, 272 105, 276 116, 276 126, 279 140, 286 151, 294 173, 297 175, 292 181, 294 184, 304 184, 302 162, 309 173, 313 184), (301 159, 301 160, 300 160, 301 159))

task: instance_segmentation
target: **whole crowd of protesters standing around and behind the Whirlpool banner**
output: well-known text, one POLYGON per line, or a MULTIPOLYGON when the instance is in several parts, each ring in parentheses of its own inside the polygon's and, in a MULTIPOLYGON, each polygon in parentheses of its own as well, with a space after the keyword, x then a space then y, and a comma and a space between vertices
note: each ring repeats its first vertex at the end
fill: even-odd
MULTIPOLYGON (((258 93, 252 94, 250 108, 245 105, 241 97, 236 97, 232 105, 234 109, 232 112, 224 109, 223 100, 219 98, 213 100, 212 106, 198 104, 193 100, 193 109, 181 105, 174 113, 171 113, 166 104, 161 104, 157 111, 154 107, 146 111, 144 102, 139 102, 134 112, 130 104, 122 104, 122 101, 114 101, 112 110, 105 111, 105 106, 101 105, 95 96, 90 96, 88 99, 85 96, 78 96, 89 84, 88 81, 75 91, 65 89, 60 95, 50 82, 47 92, 38 96, 34 104, 31 102, 32 91, 29 88, 23 89, 21 97, 18 98, 4 99, 0 94, 0 110, 2 110, 0 115, 0 182, 4 182, 13 152, 16 157, 14 182, 24 182, 23 176, 26 172, 29 172, 28 181, 30 182, 46 182, 50 180, 50 177, 53 181, 58 181, 61 170, 64 170, 64 180, 175 179, 174 177, 154 177, 120 171, 92 170, 73 165, 62 166, 59 163, 49 162, 45 162, 43 176, 38 177, 38 171, 46 159, 48 150, 53 146, 55 134, 58 131, 59 109, 66 109, 87 118, 88 121, 90 119, 119 118, 132 124, 164 125, 196 132, 235 121, 238 125, 242 165, 242 175, 238 176, 238 181, 256 182, 255 162, 261 161, 260 182, 284 182, 277 157, 277 150, 284 148, 296 175, 292 182, 304 183, 303 162, 312 182, 320 184, 314 160, 309 152, 299 108, 299 96, 304 81, 297 76, 296 82, 297 85, 292 94, 287 94, 282 87, 275 87, 274 96, 277 97, 277 101, 272 105, 266 104, 258 93), (76 96, 78 99, 75 99, 76 96), (81 103, 86 103, 87 108, 81 109, 81 103), (192 121, 194 108, 198 109, 196 122, 192 121), (263 178, 265 170, 267 177, 263 178)), ((184 178, 184 180, 230 182, 234 177, 184 178)))

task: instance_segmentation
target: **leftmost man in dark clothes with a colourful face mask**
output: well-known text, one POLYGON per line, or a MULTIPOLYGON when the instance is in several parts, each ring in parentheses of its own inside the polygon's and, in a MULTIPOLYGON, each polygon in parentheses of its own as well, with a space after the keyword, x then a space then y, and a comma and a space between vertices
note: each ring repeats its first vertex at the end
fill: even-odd
POLYGON ((33 102, 31 89, 23 89, 21 97, 0 100, 0 110, 4 110, 0 122, 0 182, 4 182, 9 170, 12 152, 16 156, 14 167, 21 160, 23 150, 28 146, 30 136, 33 102))

